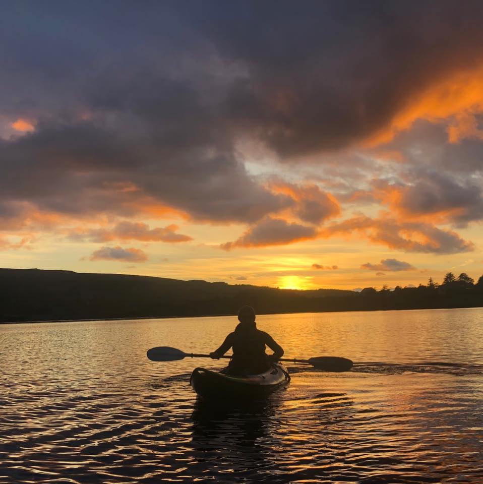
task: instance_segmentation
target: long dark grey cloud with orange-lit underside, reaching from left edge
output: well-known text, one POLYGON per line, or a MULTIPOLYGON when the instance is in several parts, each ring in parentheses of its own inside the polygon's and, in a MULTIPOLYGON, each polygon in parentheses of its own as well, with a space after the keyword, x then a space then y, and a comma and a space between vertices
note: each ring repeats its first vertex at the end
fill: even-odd
POLYGON ((255 222, 293 203, 258 185, 230 150, 201 145, 170 153, 88 122, 39 125, 0 141, 0 157, 0 202, 23 200, 71 216, 133 217, 167 206, 200 221, 255 222))

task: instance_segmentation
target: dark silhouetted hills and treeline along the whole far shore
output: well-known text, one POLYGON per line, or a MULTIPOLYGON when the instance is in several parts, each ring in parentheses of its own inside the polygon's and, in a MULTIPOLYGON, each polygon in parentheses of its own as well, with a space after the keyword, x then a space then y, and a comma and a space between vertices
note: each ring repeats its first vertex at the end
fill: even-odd
POLYGON ((446 274, 438 284, 360 292, 289 290, 122 274, 0 269, 0 322, 465 308, 483 306, 483 276, 446 274))

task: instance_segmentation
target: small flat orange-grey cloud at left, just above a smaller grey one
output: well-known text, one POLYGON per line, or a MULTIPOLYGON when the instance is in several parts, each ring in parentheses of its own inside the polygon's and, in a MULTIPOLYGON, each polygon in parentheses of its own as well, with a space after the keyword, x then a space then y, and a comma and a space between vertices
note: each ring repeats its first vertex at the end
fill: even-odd
POLYGON ((70 232, 71 240, 89 240, 90 242, 108 242, 111 240, 143 240, 146 242, 167 242, 175 244, 193 240, 189 235, 176 233, 179 227, 171 224, 166 227, 149 228, 141 222, 119 222, 111 229, 76 229, 70 232))

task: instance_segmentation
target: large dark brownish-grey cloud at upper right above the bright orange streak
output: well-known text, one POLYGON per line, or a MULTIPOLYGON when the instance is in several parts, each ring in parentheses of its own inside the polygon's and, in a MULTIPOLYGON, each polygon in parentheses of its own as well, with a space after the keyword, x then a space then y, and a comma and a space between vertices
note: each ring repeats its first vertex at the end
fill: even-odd
POLYGON ((245 67, 230 113, 282 156, 347 146, 481 59, 476 2, 195 3, 185 14, 223 59, 245 67))

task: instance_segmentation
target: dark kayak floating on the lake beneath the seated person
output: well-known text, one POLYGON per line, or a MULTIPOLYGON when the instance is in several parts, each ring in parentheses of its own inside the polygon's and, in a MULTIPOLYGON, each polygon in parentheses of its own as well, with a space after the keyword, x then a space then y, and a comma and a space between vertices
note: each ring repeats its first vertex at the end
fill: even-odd
POLYGON ((195 368, 190 384, 193 390, 204 398, 260 398, 274 392, 290 381, 288 370, 280 362, 272 364, 269 370, 258 375, 232 376, 195 368))

